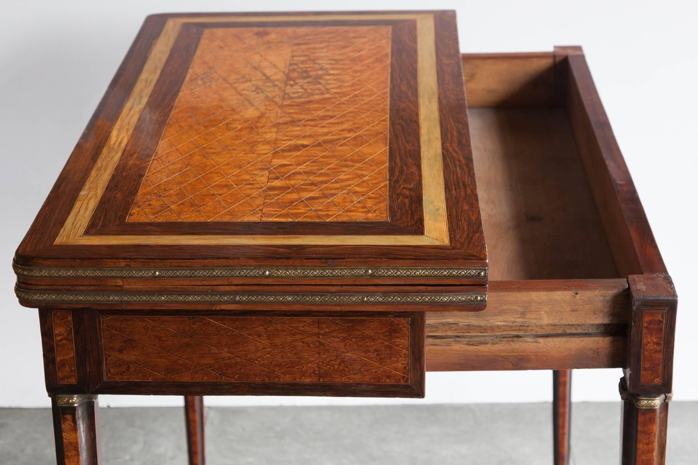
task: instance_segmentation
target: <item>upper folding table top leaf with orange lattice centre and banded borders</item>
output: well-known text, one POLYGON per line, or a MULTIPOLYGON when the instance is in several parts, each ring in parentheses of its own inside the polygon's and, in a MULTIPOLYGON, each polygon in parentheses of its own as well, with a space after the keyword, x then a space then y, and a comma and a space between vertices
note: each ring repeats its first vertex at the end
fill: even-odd
POLYGON ((15 261, 482 283, 454 13, 148 17, 15 261))

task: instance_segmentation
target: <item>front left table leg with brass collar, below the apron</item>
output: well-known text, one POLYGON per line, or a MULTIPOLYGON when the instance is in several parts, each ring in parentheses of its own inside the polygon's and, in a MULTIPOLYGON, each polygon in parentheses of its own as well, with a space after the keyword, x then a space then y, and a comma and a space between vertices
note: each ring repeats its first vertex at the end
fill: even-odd
POLYGON ((97 396, 55 395, 53 428, 58 465, 98 465, 97 396))

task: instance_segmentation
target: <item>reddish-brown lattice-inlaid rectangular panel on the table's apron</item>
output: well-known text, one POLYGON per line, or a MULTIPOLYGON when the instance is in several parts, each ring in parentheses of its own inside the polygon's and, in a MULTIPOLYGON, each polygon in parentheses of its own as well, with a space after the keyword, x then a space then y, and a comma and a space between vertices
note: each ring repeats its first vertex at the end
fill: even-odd
POLYGON ((408 383, 408 318, 102 317, 112 381, 408 383))

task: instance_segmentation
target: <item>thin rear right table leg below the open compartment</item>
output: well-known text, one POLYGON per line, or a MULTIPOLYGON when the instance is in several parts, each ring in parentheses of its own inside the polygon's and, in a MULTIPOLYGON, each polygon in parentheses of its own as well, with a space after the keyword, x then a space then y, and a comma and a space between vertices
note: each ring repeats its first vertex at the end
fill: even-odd
POLYGON ((572 370, 553 371, 553 463, 570 463, 572 370))

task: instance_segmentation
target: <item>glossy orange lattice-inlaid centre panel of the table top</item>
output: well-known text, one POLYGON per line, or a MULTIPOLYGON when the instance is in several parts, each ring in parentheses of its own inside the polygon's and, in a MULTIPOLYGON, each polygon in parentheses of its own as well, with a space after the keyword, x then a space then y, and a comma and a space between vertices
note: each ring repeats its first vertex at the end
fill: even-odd
POLYGON ((387 221, 389 26, 206 29, 128 221, 387 221))

